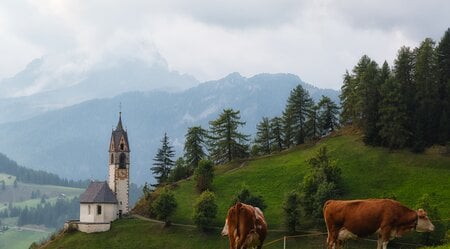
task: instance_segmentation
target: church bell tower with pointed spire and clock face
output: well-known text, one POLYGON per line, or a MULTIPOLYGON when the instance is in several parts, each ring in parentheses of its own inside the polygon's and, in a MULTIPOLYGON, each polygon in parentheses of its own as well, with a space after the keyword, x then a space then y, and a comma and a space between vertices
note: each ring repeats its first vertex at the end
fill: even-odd
POLYGON ((109 181, 108 185, 115 193, 118 202, 118 215, 128 213, 130 189, 130 146, 127 131, 122 126, 122 112, 119 122, 112 131, 109 144, 109 181))

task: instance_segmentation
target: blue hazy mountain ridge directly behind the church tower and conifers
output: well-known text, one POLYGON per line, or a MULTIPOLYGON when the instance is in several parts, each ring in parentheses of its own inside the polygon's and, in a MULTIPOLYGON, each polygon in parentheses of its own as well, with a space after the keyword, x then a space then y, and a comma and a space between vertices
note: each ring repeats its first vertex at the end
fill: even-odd
POLYGON ((318 89, 292 74, 246 78, 233 73, 182 92, 129 92, 1 124, 0 151, 22 165, 62 177, 106 179, 109 139, 122 103, 131 147, 132 181, 153 181, 149 168, 164 132, 181 155, 188 127, 207 128, 208 121, 231 107, 240 110, 241 119, 247 122, 242 131, 252 134, 263 116, 281 114, 290 91, 298 84, 316 101, 322 94, 338 100, 337 91, 318 89))

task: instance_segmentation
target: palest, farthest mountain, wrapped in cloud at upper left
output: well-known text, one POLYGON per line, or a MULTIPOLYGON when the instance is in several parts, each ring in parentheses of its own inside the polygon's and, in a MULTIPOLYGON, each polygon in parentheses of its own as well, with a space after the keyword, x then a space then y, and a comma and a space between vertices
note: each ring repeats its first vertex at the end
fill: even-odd
POLYGON ((0 81, 0 123, 25 120, 49 110, 124 92, 184 90, 199 83, 192 76, 170 71, 163 59, 153 64, 136 58, 117 59, 60 73, 48 69, 50 59, 35 59, 14 77, 0 81))

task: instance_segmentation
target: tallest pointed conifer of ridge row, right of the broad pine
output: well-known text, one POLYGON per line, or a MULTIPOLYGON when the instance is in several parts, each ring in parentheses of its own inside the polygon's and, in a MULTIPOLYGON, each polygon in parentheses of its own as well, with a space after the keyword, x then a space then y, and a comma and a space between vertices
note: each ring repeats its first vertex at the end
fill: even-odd
POLYGON ((284 115, 291 118, 286 118, 289 123, 285 126, 293 132, 293 143, 303 144, 306 138, 306 120, 310 114, 311 108, 314 105, 309 93, 303 89, 301 85, 295 87, 287 100, 284 115))

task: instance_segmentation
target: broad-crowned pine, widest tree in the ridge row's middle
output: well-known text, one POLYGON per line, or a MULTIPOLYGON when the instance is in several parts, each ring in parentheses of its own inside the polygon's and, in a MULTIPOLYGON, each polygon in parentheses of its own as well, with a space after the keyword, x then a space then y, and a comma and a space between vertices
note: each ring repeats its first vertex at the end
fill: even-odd
POLYGON ((240 121, 239 113, 233 109, 225 109, 216 120, 209 122, 209 147, 216 163, 248 156, 248 135, 238 131, 240 126, 245 125, 245 122, 240 121))

